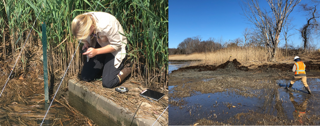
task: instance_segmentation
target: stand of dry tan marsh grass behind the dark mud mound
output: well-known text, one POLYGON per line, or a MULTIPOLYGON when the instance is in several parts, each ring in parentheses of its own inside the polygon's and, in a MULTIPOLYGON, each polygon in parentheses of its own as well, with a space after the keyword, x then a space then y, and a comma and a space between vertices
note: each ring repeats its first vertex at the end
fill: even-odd
MULTIPOLYGON (((290 57, 285 57, 281 50, 278 49, 276 58, 277 61, 286 61, 290 57)), ((191 65, 219 65, 228 60, 232 61, 233 59, 237 59, 237 61, 243 65, 252 63, 268 63, 268 51, 266 48, 259 47, 231 47, 223 48, 215 52, 169 56, 169 60, 171 61, 201 60, 199 62, 194 62, 191 65)))

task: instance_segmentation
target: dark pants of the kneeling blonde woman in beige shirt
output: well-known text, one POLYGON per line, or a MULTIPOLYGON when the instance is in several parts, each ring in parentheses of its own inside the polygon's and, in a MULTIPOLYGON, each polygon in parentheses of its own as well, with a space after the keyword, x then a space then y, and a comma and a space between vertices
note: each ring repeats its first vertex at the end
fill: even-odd
MULTIPOLYGON (((97 43, 95 48, 101 48, 97 43)), ((118 68, 115 67, 115 56, 111 53, 99 54, 89 59, 89 62, 85 60, 84 66, 81 71, 81 78, 84 81, 90 82, 95 78, 100 78, 98 75, 102 71, 102 86, 105 88, 114 88, 120 83, 117 74, 124 67, 124 61, 118 68)))

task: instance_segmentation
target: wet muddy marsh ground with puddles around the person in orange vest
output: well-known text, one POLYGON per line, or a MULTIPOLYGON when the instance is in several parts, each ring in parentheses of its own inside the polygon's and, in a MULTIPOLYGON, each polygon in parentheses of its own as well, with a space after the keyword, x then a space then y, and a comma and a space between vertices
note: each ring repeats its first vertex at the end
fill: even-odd
POLYGON ((320 125, 319 70, 307 71, 309 95, 301 81, 293 85, 296 91, 284 89, 293 76, 288 70, 246 71, 232 62, 207 67, 215 70, 202 66, 169 75, 169 125, 320 125))

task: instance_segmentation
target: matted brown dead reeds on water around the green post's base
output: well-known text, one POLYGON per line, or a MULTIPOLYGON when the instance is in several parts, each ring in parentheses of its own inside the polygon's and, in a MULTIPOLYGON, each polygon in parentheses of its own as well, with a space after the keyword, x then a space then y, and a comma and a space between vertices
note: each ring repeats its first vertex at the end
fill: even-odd
MULTIPOLYGON (((5 78, 0 78, 0 82, 5 80, 5 78)), ((0 125, 41 124, 50 105, 44 103, 43 88, 43 81, 41 82, 41 80, 35 81, 29 80, 29 78, 26 78, 25 81, 21 79, 10 80, 0 99, 2 101, 0 125)), ((75 122, 78 125, 87 124, 86 117, 75 110, 71 110, 72 108, 68 106, 68 103, 63 102, 66 99, 59 99, 59 97, 56 97, 53 101, 43 125, 69 125, 75 122)))

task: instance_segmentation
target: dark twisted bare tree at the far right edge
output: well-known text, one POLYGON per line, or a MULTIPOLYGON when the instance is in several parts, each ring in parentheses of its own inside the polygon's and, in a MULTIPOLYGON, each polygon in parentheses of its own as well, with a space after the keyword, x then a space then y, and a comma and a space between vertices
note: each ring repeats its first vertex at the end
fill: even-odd
POLYGON ((319 18, 319 14, 317 13, 317 4, 314 6, 308 6, 308 4, 300 4, 301 10, 307 13, 308 16, 307 24, 303 25, 300 28, 300 34, 303 41, 303 51, 306 52, 307 46, 312 41, 311 35, 316 33, 319 28, 319 23, 317 22, 317 18, 319 18))

